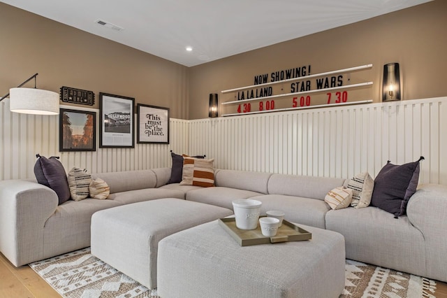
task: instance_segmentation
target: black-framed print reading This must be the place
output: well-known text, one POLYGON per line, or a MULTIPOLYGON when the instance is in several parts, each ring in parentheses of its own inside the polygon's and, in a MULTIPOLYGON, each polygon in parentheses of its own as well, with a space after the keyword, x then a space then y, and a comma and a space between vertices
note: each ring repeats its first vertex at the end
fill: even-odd
POLYGON ((169 108, 137 105, 137 143, 169 143, 169 108))

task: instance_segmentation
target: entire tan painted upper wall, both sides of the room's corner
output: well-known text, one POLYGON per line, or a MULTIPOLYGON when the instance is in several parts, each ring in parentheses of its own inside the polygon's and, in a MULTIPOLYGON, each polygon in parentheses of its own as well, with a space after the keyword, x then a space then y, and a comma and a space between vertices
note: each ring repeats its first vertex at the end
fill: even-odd
MULTIPOLYGON (((441 97, 447 94, 446 13, 447 1, 435 0, 187 68, 0 3, 0 93, 38 72, 39 88, 93 91, 94 108, 98 93, 107 92, 166 106, 172 118, 199 119, 207 118, 210 93, 219 93, 220 102, 231 101, 235 94, 220 91, 252 85, 259 74, 309 64, 312 73, 373 64, 349 74, 349 81, 344 73, 344 85, 372 81, 372 87, 349 91, 349 101, 379 102, 383 64, 399 62, 403 99, 441 97)), ((290 92, 289 85, 281 87, 290 92)), ((323 104, 324 94, 312 100, 323 104)), ((291 99, 286 101, 290 104, 291 99)), ((233 113, 235 108, 226 106, 221 112, 233 113)))

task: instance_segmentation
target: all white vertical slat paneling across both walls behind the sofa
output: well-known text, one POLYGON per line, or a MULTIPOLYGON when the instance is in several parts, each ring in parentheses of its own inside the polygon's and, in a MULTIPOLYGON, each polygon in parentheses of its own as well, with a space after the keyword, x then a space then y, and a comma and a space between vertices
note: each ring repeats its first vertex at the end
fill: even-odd
MULTIPOLYGON (((76 107, 78 108, 78 107, 76 107)), ((374 178, 388 159, 420 155, 420 182, 447 184, 447 97, 244 115, 170 119, 170 144, 59 152, 57 116, 10 113, 0 103, 0 179, 34 178, 36 153, 92 173, 170 166, 170 152, 205 154, 219 169, 374 178)), ((98 138, 98 132, 96 133, 98 138)), ((98 139, 97 139, 98 142, 98 139)))

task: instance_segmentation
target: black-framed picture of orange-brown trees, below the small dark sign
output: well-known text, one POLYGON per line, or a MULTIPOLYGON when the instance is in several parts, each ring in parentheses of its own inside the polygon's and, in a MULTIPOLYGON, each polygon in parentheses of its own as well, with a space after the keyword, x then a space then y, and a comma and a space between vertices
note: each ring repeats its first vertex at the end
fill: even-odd
POLYGON ((60 109, 59 151, 96 151, 96 112, 60 109))

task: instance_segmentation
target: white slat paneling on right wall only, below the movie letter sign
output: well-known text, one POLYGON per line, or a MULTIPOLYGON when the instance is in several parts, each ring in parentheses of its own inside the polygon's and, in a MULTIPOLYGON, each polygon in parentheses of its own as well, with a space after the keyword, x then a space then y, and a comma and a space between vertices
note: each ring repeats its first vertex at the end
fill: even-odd
POLYGON ((191 120, 190 151, 220 169, 339 178, 423 155, 420 182, 447 184, 446 118, 439 97, 191 120))

